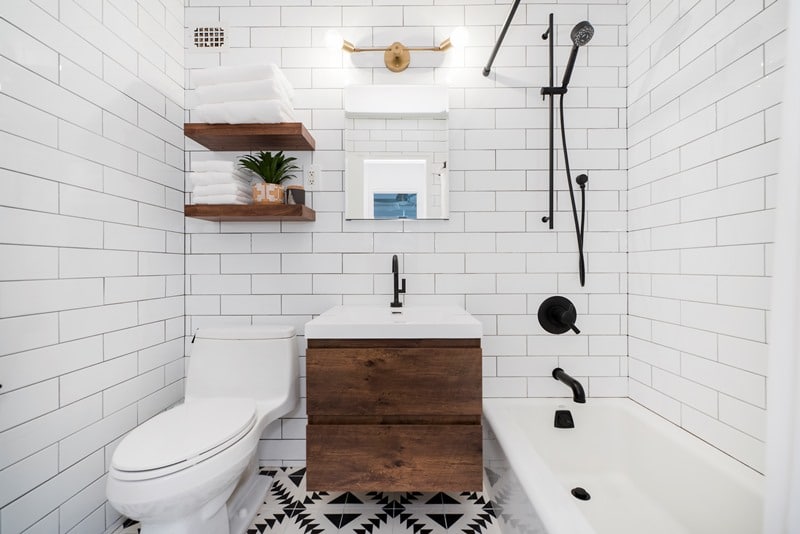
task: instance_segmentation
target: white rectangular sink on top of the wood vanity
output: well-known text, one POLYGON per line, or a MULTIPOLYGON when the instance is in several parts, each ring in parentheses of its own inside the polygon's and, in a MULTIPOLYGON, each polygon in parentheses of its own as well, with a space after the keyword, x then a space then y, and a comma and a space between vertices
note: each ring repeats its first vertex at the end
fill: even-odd
POLYGON ((336 306, 306 323, 308 339, 476 339, 481 323, 456 306, 336 306))

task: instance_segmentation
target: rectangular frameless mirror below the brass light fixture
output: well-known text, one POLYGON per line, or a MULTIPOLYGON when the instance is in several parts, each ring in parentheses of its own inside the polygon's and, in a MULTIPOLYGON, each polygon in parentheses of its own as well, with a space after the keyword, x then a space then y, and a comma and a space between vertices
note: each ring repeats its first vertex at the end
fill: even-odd
POLYGON ((434 87, 436 98, 420 94, 431 91, 421 86, 348 89, 345 218, 447 219, 446 89, 434 87), (376 104, 370 105, 370 100, 376 104), (387 103, 396 106, 395 111, 385 109, 387 103), (426 106, 431 109, 416 110, 426 106))

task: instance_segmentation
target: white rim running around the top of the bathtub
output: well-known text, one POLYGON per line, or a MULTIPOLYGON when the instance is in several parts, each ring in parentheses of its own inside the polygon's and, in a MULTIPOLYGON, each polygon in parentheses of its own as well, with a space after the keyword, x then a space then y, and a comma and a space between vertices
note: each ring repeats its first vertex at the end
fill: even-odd
MULTIPOLYGON (((515 435, 515 430, 525 432, 517 422, 513 409, 520 406, 548 407, 552 409, 567 408, 580 410, 594 406, 611 405, 617 406, 629 412, 633 417, 642 418, 648 426, 653 427, 655 432, 665 434, 667 438, 672 438, 679 444, 698 446, 697 452, 704 461, 712 464, 729 464, 734 462, 740 468, 726 473, 733 476, 745 487, 762 495, 764 494, 764 475, 752 467, 742 463, 736 458, 717 449, 712 444, 704 441, 691 432, 675 425, 671 421, 664 419, 647 407, 639 404, 627 397, 606 397, 588 399, 587 404, 577 405, 564 397, 521 397, 521 398, 487 398, 483 399, 483 415, 497 438, 497 441, 506 456, 511 469, 517 475, 517 479, 523 491, 533 504, 536 513, 548 532, 552 534, 597 534, 594 527, 588 522, 578 503, 573 499, 568 491, 548 492, 548 487, 563 487, 562 483, 556 478, 553 471, 539 456, 538 453, 526 453, 518 445, 519 434, 515 435), (554 485, 554 486, 551 486, 554 485)), ((725 467, 725 466, 722 466, 725 467)), ((565 488, 568 490, 568 488, 565 488)), ((763 513, 763 511, 762 511, 763 513)))

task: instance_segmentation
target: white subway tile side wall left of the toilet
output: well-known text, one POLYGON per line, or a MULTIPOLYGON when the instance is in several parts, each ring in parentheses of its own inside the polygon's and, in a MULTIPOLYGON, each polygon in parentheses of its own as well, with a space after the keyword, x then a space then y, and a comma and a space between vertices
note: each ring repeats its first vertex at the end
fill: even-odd
POLYGON ((184 378, 183 2, 0 3, 0 531, 109 532, 184 378))

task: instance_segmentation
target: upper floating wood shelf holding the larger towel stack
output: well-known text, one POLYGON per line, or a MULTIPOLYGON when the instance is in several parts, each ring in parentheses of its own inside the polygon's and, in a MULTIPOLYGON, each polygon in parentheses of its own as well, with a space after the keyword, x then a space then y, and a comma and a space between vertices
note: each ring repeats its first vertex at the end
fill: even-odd
POLYGON ((217 151, 314 150, 314 138, 301 122, 277 124, 205 124, 187 122, 183 133, 217 151))

